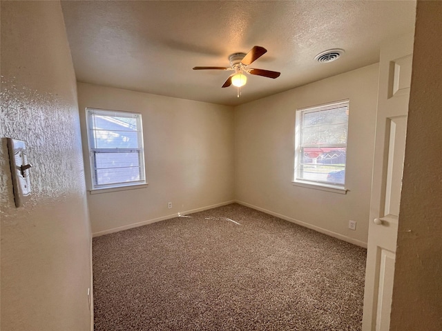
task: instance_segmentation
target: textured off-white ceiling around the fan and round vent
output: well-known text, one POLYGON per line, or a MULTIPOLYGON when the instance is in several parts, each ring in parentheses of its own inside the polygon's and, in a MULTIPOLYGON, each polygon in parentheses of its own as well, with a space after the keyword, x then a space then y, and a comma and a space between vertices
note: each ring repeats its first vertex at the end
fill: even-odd
POLYGON ((415 1, 62 1, 77 80, 238 105, 376 63, 381 42, 414 28, 415 1), (268 52, 251 67, 281 72, 221 88, 229 54, 268 52), (314 57, 343 48, 338 61, 314 57))

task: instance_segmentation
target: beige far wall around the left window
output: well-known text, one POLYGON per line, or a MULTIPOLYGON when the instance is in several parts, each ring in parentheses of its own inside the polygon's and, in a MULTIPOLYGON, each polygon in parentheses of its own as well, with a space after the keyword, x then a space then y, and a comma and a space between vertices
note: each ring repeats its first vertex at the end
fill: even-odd
POLYGON ((89 182, 85 108, 141 112, 143 117, 148 185, 88 194, 95 235, 233 200, 231 107, 86 83, 78 83, 78 100, 89 182))

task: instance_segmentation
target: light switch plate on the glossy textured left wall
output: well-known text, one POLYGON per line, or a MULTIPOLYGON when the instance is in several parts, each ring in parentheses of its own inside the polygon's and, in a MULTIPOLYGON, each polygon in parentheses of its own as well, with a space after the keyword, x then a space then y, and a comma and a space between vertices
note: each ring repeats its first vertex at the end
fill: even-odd
POLYGON ((24 141, 6 138, 14 189, 15 206, 20 207, 30 198, 30 167, 24 141))

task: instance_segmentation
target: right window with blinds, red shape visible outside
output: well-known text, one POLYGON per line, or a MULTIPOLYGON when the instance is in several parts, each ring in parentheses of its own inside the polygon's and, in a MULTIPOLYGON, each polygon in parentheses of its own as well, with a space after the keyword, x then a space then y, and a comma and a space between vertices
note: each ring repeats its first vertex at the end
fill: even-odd
POLYGON ((295 182, 344 189, 349 101, 296 110, 295 182))

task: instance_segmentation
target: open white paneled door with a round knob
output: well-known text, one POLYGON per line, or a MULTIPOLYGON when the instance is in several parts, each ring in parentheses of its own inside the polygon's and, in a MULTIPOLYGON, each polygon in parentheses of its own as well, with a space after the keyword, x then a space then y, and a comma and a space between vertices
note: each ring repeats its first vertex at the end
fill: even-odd
POLYGON ((413 41, 410 34, 381 48, 363 331, 390 329, 413 41))

